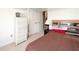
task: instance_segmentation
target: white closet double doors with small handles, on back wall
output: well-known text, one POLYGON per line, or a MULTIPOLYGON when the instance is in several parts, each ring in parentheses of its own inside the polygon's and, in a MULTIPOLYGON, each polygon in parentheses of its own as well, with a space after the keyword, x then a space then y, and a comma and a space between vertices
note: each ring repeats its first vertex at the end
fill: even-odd
POLYGON ((35 9, 29 10, 29 33, 36 34, 40 32, 40 12, 35 9))

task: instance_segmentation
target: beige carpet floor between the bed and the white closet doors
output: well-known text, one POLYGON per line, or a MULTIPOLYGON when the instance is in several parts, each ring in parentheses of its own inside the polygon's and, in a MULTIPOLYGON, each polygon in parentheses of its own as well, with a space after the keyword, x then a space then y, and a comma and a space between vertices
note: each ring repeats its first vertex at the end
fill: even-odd
POLYGON ((15 45, 15 43, 12 43, 12 44, 9 44, 9 45, 6 45, 4 47, 1 47, 0 48, 0 51, 24 51, 26 46, 36 40, 37 38, 40 38, 41 36, 43 36, 44 33, 43 32, 40 32, 40 33, 37 33, 37 34, 34 34, 34 35, 31 35, 27 41, 19 44, 19 45, 15 45))

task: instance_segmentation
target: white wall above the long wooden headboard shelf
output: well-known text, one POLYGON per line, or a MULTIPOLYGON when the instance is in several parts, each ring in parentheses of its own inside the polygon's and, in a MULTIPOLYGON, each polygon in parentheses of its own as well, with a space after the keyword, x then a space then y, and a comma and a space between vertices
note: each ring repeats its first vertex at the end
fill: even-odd
POLYGON ((49 8, 48 20, 79 20, 79 8, 49 8))

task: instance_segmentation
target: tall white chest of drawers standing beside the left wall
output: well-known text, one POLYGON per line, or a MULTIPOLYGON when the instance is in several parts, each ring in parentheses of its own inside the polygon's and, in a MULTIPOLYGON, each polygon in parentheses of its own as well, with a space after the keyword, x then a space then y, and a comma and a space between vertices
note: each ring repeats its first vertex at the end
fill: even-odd
POLYGON ((16 30, 15 30, 15 39, 16 45, 22 43, 23 41, 27 40, 27 15, 26 11, 19 11, 21 14, 20 17, 16 18, 16 30))

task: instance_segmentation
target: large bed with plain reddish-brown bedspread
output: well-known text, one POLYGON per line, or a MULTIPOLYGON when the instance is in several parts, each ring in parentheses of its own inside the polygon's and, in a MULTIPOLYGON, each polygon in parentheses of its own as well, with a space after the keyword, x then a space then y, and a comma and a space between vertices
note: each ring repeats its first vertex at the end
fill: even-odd
POLYGON ((79 39, 70 35, 49 31, 31 42, 26 51, 79 51, 79 39))

